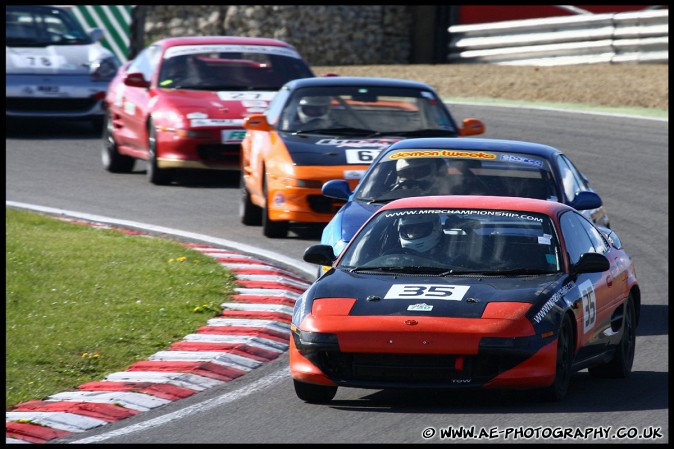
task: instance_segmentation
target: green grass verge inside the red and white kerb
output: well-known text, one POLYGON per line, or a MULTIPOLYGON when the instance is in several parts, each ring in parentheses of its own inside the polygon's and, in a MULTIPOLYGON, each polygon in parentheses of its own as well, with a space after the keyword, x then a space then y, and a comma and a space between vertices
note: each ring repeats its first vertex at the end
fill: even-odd
POLYGON ((177 241, 6 209, 5 407, 125 371, 221 312, 234 275, 177 241))

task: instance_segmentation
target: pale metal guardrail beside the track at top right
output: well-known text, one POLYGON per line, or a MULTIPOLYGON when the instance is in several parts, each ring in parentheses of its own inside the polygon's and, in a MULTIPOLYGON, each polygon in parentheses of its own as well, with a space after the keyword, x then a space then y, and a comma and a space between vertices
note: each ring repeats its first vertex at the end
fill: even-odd
POLYGON ((448 28, 450 63, 555 66, 669 62, 669 10, 448 28))

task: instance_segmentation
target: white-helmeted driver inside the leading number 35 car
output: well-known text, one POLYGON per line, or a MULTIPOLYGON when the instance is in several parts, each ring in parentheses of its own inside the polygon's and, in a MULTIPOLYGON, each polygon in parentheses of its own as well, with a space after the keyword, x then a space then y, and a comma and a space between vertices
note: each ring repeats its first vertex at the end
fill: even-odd
POLYGON ((407 215, 398 222, 400 246, 426 257, 440 252, 442 225, 438 214, 407 215))

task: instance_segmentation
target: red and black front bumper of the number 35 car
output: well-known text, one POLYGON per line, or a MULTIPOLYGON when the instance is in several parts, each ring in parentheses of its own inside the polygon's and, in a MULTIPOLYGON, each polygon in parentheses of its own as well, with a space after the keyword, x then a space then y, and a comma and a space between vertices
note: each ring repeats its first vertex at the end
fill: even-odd
POLYGON ((322 329, 337 345, 302 341, 294 330, 292 377, 356 388, 542 388, 555 377, 556 338, 520 332, 509 320, 442 318, 428 331, 407 331, 391 325, 405 317, 378 317, 374 325, 358 318, 367 319, 322 329))

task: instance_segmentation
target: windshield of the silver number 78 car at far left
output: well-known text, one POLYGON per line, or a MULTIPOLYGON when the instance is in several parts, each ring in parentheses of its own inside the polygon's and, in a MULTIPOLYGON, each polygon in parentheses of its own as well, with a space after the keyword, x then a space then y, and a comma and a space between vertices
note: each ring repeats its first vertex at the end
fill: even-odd
POLYGON ((87 44, 91 44, 87 33, 64 10, 37 6, 7 6, 5 9, 5 45, 8 47, 87 44))

